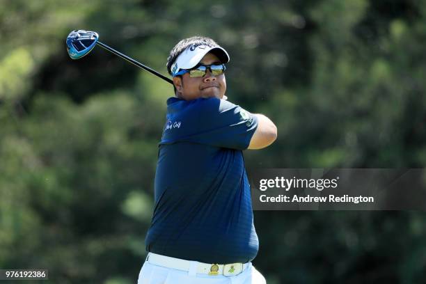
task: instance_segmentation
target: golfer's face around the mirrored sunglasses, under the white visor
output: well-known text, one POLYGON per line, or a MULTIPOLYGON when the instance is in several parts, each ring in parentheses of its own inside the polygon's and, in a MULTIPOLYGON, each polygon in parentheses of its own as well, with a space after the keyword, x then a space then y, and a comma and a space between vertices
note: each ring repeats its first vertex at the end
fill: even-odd
MULTIPOLYGON (((200 60, 203 65, 221 64, 219 58, 210 52, 200 60)), ((189 77, 185 73, 181 77, 173 77, 173 83, 177 90, 177 96, 183 100, 196 100, 200 97, 217 97, 222 99, 226 91, 225 74, 213 76, 210 70, 207 70, 204 77, 189 77)))

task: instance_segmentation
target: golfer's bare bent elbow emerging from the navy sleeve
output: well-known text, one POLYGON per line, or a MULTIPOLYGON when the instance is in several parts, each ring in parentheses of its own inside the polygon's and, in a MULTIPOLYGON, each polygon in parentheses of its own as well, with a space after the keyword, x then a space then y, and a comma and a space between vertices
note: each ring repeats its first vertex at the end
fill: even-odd
POLYGON ((258 128, 251 137, 248 149, 262 149, 271 145, 276 139, 276 126, 263 114, 253 114, 258 118, 258 128))

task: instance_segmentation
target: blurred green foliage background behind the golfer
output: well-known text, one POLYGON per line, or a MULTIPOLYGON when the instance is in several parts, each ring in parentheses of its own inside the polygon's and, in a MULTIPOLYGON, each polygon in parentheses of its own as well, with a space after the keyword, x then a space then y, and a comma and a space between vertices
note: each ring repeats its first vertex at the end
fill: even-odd
MULTIPOLYGON (((2 269, 128 284, 146 255, 173 88, 100 47, 72 61, 74 29, 162 74, 180 39, 214 38, 229 100, 278 126, 248 170, 425 167, 424 0, 0 0, 2 269)), ((269 284, 425 283, 424 212, 254 214, 269 284)))

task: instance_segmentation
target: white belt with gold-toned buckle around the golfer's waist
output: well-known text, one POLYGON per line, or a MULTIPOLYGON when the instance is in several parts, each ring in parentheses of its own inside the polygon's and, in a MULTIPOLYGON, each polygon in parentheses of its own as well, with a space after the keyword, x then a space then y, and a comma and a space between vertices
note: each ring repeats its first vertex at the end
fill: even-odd
POLYGON ((223 276, 235 276, 242 271, 246 270, 250 265, 250 262, 246 263, 230 263, 227 265, 219 265, 215 263, 203 263, 191 260, 181 260, 180 258, 171 258, 166 255, 159 255, 157 253, 148 253, 146 257, 152 265, 159 265, 161 267, 168 267, 183 271, 189 271, 191 268, 191 262, 196 262, 196 273, 208 274, 208 275, 223 275, 223 276))

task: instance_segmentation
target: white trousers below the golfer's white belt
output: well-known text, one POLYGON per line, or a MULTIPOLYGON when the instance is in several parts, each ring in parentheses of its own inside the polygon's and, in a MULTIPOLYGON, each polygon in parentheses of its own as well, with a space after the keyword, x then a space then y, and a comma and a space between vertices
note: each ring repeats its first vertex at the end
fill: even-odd
POLYGON ((190 276, 190 272, 145 262, 139 273, 138 284, 266 284, 265 277, 251 265, 251 262, 246 270, 236 276, 208 274, 190 276))

